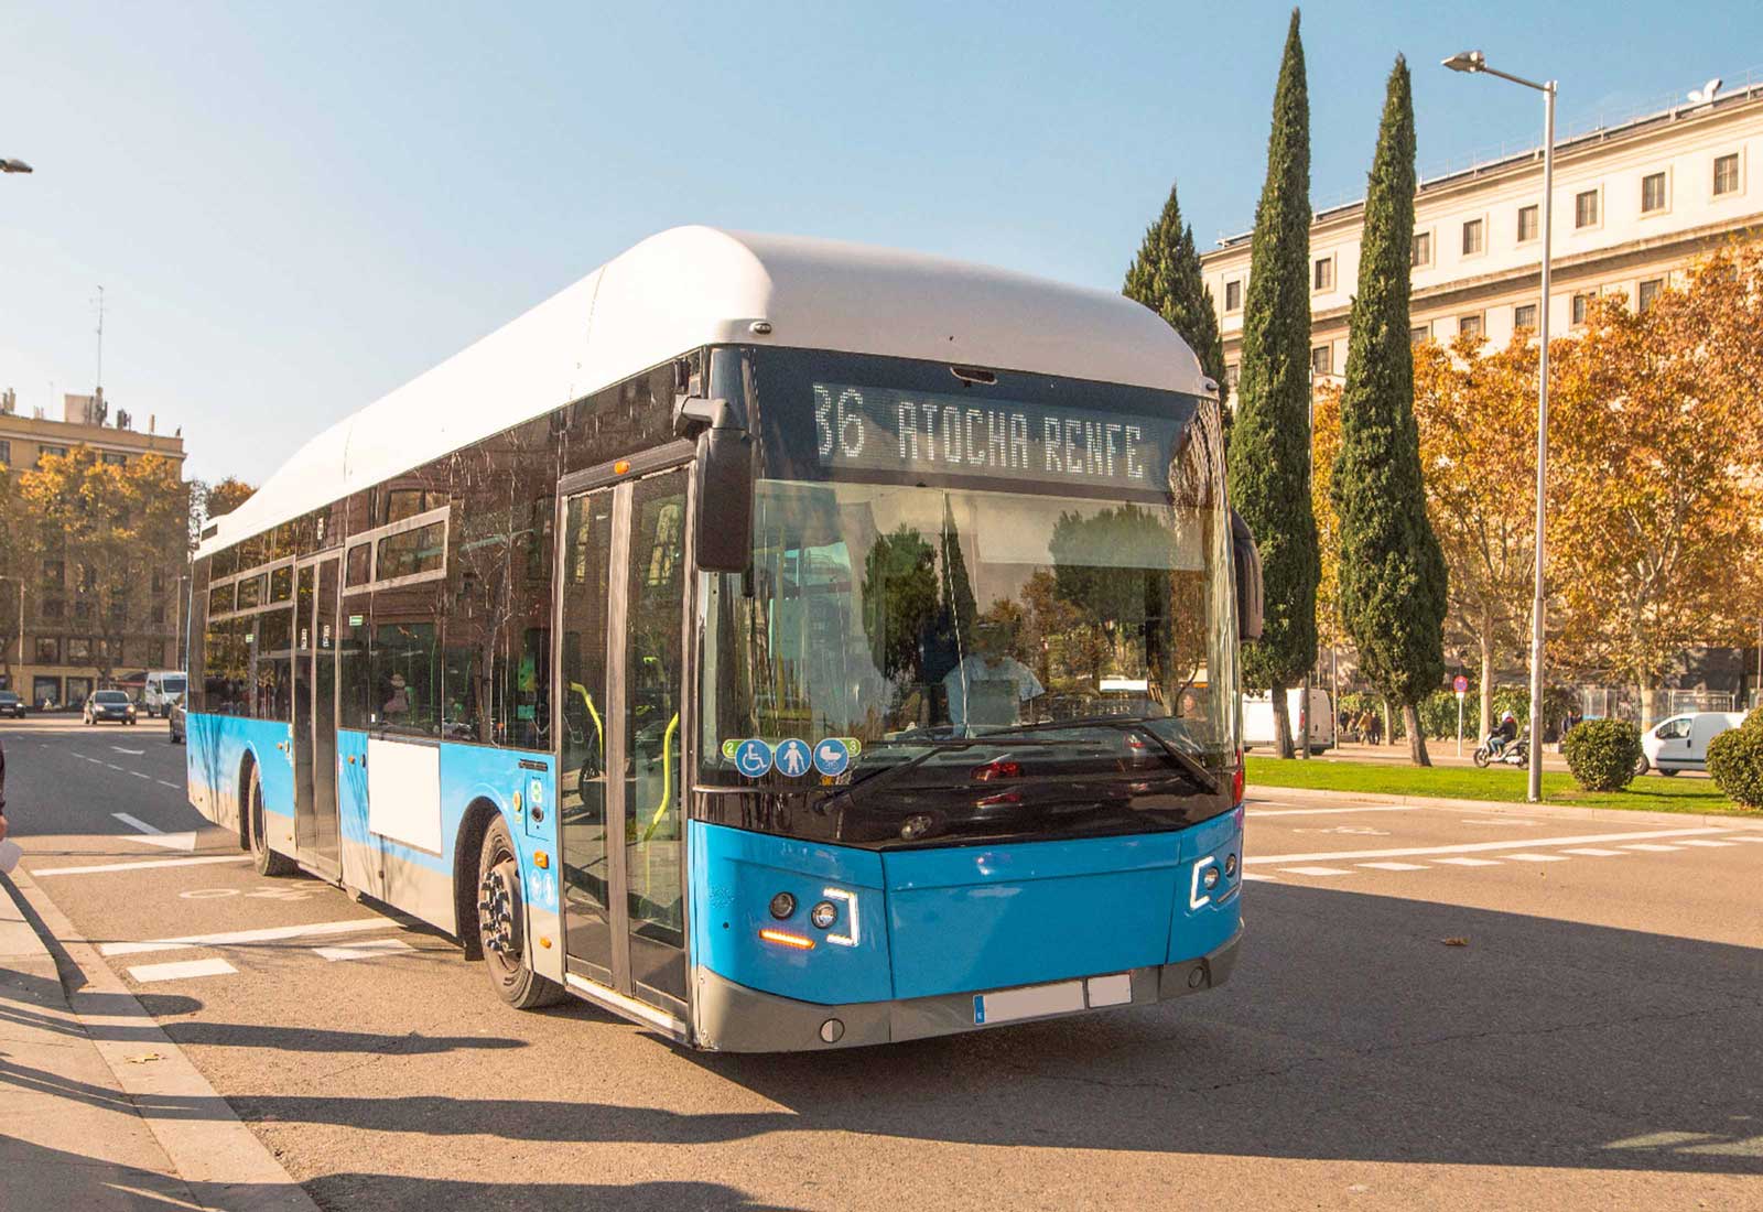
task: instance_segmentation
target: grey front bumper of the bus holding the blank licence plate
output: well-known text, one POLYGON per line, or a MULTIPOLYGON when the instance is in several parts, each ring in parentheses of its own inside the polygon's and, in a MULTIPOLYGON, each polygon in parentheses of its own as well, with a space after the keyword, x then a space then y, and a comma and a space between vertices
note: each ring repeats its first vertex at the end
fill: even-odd
MULTIPOLYGON (((978 1018, 978 999, 1015 990, 986 990, 982 994, 938 994, 934 997, 913 997, 890 1002, 848 1002, 843 1006, 818 1006, 776 994, 735 985, 709 969, 696 972, 696 1043, 700 1048, 718 1052, 811 1052, 816 1048, 855 1048, 878 1043, 899 1043, 904 1039, 924 1039, 927 1036, 950 1036, 961 1031, 980 1031, 1017 1022, 1045 1022, 1047 1018, 1068 1018, 1091 1009, 1123 1009, 1127 1006, 1149 1006, 1188 994, 1224 985, 1236 967, 1238 944, 1243 930, 1231 935, 1216 951, 1178 964, 1155 967, 1135 967, 1128 972, 1107 972, 1090 978, 1072 978, 1053 981, 1023 990, 1033 997, 1037 990, 1047 990, 1049 1001, 1081 999, 1082 1004, 1056 1009, 1053 1013, 1010 1011, 1001 1022, 994 1016, 986 1022, 978 1018), (1118 979, 1130 978, 1130 1001, 1116 995, 1118 979), (1107 999, 1102 1001, 1104 981, 1107 999), (1081 992, 1070 987, 1079 987, 1081 992)), ((1024 1002, 1019 999, 1017 1008, 1024 1002)))

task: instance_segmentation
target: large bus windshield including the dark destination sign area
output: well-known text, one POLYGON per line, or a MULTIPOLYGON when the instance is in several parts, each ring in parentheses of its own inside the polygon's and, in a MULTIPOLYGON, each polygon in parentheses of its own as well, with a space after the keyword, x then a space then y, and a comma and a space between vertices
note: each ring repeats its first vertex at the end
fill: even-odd
POLYGON ((1014 833, 1229 807, 1215 403, 1021 375, 956 396, 765 352, 799 363, 755 375, 785 474, 758 483, 753 571, 705 578, 703 782, 837 802, 844 840, 994 837, 975 805, 1000 794, 1014 833))

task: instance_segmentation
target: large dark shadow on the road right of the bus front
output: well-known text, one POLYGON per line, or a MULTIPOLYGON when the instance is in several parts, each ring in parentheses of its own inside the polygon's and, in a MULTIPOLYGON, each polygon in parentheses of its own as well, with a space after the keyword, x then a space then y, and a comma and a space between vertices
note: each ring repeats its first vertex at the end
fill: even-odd
POLYGON ((681 1055, 797 1129, 1763 1175, 1763 950, 1275 884, 1245 918, 1234 979, 1155 1009, 681 1055))

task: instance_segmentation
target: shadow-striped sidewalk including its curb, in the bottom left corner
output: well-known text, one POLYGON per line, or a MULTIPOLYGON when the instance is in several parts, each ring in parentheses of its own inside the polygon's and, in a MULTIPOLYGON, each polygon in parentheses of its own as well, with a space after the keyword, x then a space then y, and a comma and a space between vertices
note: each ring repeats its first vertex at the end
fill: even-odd
POLYGON ((23 868, 0 876, 0 1207, 316 1212, 32 891, 23 868), (56 935, 60 967, 44 944, 56 935))

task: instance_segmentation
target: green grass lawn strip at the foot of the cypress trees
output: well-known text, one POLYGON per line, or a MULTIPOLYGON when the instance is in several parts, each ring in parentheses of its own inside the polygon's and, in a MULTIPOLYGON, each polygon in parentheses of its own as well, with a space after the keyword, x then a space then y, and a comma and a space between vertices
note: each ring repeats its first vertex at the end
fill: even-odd
MULTIPOLYGON (((1525 802, 1525 772, 1509 766, 1395 766, 1377 761, 1298 761, 1248 758, 1248 787, 1313 787, 1320 791, 1368 791, 1373 794, 1440 796, 1446 800, 1525 802)), ((1731 812, 1740 809, 1712 779, 1636 779, 1622 791, 1580 791, 1567 772, 1543 772, 1543 800, 1596 809, 1645 809, 1648 812, 1731 812)))

